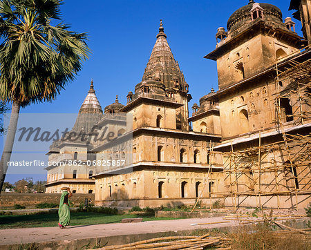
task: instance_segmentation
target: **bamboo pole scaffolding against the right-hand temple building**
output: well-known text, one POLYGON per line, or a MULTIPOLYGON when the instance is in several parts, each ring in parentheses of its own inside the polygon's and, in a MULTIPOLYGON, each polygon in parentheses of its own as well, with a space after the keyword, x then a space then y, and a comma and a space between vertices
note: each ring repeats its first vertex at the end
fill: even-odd
POLYGON ((223 171, 217 173, 225 176, 225 188, 228 191, 210 191, 210 198, 212 194, 223 195, 224 198, 231 196, 232 207, 236 209, 239 206, 240 195, 257 196, 258 207, 263 208, 263 196, 275 195, 277 209, 280 209, 282 195, 294 197, 293 206, 297 208, 298 195, 311 194, 311 135, 285 133, 288 126, 303 125, 311 120, 311 59, 302 63, 290 60, 289 63, 287 68, 283 67, 280 70, 279 61, 276 61, 275 92, 269 95, 269 98, 274 97, 276 107, 274 128, 280 131, 282 139, 267 143, 267 140, 263 140, 263 131, 259 131, 258 138, 254 137, 258 140, 258 146, 234 150, 232 141, 229 151, 217 151, 216 153, 226 159, 223 171), (280 79, 288 79, 290 84, 281 90, 280 79), (283 98, 290 99, 292 113, 282 113, 283 98), (290 124, 287 123, 289 119, 292 119, 290 124), (299 168, 299 173, 296 173, 296 168, 299 168), (272 177, 272 180, 265 183, 267 175, 272 177))

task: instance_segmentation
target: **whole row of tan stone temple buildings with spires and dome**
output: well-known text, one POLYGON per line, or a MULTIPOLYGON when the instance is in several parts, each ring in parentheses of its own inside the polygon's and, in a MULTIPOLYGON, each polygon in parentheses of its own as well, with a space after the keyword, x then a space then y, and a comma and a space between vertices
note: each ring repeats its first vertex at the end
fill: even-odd
POLYGON ((95 193, 97 206, 221 200, 235 208, 305 207, 311 195, 310 0, 292 0, 290 9, 304 37, 279 8, 252 0, 229 17, 227 29, 217 29, 216 48, 205 58, 217 63, 218 91, 201 97, 191 117, 189 85, 161 21, 126 105, 116 97, 103 112, 92 81, 79 109, 72 131, 108 128, 115 140, 51 145, 50 161, 82 164, 48 167, 46 192, 70 186, 95 193), (124 169, 86 164, 129 158, 124 169))

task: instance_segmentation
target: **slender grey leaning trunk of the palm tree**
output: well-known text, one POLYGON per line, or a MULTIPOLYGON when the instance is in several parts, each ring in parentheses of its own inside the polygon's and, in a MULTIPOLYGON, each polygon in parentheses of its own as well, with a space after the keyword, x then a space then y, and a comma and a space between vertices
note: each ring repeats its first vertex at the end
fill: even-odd
POLYGON ((6 171, 8 170, 8 161, 12 154, 12 148, 15 139, 15 133, 17 128, 17 122, 19 120, 19 104, 12 104, 12 111, 10 117, 10 124, 8 126, 8 133, 6 135, 6 144, 4 144, 3 153, 0 161, 0 193, 3 186, 3 182, 6 178, 6 171))

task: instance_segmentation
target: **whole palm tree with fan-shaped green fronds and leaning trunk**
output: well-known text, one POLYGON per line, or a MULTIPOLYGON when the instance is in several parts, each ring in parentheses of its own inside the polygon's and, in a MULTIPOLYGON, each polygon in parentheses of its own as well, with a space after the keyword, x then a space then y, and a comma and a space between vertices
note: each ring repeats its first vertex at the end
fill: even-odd
POLYGON ((88 58, 86 34, 51 22, 63 0, 0 0, 0 99, 12 102, 0 162, 0 190, 8 169, 21 107, 51 102, 88 58))

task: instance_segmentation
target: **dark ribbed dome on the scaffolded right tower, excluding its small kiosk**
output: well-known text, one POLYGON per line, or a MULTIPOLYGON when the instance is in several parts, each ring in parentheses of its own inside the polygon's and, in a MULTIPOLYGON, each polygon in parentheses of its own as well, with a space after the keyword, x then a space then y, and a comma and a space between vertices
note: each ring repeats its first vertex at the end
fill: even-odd
MULTIPOLYGON (((253 0, 250 0, 246 6, 239 8, 229 17, 227 21, 228 31, 239 28, 251 21, 250 10, 252 10, 254 3, 253 0)), ((283 23, 282 12, 279 8, 270 3, 259 3, 259 5, 263 8, 265 17, 268 17, 271 21, 276 21, 277 23, 281 21, 283 23)))

